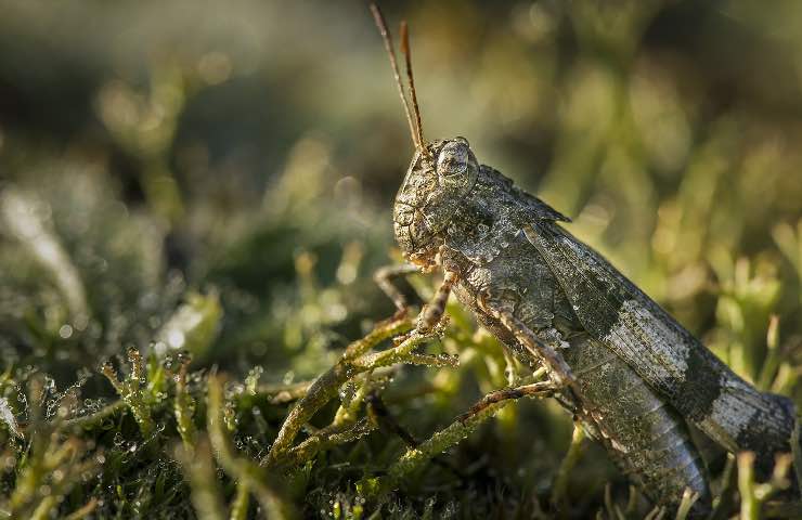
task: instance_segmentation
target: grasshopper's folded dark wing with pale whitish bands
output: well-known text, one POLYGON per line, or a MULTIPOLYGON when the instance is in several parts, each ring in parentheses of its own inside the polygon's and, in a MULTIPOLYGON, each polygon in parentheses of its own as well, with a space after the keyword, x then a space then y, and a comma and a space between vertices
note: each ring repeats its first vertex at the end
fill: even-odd
POLYGON ((791 401, 733 373, 598 252, 553 221, 523 233, 556 276, 582 326, 626 362, 687 420, 735 452, 771 464, 790 451, 791 401))

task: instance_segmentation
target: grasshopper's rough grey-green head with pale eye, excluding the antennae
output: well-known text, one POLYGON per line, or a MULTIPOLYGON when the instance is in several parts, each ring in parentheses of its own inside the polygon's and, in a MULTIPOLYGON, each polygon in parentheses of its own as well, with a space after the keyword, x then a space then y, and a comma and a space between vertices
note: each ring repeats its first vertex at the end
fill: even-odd
POLYGON ((463 198, 470 193, 479 164, 465 138, 432 141, 417 151, 396 196, 393 230, 404 255, 431 263, 463 198))

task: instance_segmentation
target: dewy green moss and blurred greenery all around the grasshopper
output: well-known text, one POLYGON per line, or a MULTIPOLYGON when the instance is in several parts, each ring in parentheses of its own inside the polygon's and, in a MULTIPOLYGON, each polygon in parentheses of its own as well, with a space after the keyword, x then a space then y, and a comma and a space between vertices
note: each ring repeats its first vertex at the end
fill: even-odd
MULTIPOLYGON (((385 8, 427 135, 802 404, 797 2, 385 8)), ((421 335, 374 284, 412 145, 364 5, 0 11, 0 518, 664 515, 455 301, 421 335)), ((716 518, 799 512, 790 459, 710 452, 716 518)))

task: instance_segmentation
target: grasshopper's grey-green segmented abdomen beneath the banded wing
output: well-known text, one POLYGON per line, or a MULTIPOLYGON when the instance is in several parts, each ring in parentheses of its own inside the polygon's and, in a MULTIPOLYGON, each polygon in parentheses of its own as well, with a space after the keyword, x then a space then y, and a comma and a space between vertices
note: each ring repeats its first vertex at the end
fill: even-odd
POLYGON ((562 352, 582 389, 577 404, 619 468, 660 504, 677 504, 690 489, 699 494, 694 512, 707 512, 704 465, 685 420, 599 342, 579 335, 569 344, 562 352))

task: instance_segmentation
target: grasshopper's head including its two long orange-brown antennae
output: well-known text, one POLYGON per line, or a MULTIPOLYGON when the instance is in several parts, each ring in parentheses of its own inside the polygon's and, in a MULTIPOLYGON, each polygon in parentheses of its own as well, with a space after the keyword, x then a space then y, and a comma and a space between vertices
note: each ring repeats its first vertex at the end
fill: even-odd
POLYGON ((441 240, 438 235, 454 216, 461 200, 474 187, 479 165, 465 138, 432 142, 424 140, 406 24, 401 22, 401 51, 405 57, 412 105, 401 82, 396 51, 385 18, 376 4, 371 4, 371 11, 381 32, 406 121, 410 123, 412 142, 415 144, 415 155, 396 196, 392 212, 396 242, 410 260, 428 264, 439 249, 441 240))

